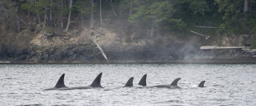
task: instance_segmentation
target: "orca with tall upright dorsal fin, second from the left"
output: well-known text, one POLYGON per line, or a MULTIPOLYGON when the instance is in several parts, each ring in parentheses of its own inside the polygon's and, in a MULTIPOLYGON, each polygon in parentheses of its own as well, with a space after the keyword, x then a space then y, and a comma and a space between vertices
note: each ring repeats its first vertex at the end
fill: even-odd
POLYGON ((80 86, 80 87, 70 87, 72 89, 91 89, 91 88, 103 88, 101 86, 101 75, 102 72, 94 79, 93 83, 89 86, 80 86))

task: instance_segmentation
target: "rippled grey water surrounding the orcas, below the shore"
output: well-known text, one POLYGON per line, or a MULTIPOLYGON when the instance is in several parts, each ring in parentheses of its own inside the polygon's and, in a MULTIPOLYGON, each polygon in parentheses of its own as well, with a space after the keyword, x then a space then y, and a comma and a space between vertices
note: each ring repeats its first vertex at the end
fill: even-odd
POLYGON ((0 105, 256 105, 256 64, 0 64, 0 105), (42 91, 65 73, 68 87, 90 85, 103 72, 105 88, 42 91), (136 86, 147 74, 147 86, 136 86), (134 77, 133 86, 124 86, 134 77), (152 88, 181 77, 182 89, 152 88), (205 88, 197 85, 206 80, 205 88))

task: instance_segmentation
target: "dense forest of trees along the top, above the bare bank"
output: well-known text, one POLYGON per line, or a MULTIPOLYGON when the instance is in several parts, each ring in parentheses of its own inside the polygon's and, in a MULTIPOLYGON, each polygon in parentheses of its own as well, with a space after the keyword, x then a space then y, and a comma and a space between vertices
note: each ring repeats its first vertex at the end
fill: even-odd
POLYGON ((225 28, 219 33, 256 33, 255 0, 1 0, 0 12, 1 24, 16 30, 20 28, 13 23, 23 13, 37 19, 41 30, 68 31, 72 23, 84 26, 86 20, 92 27, 102 19, 128 19, 151 30, 150 36, 161 30, 181 33, 196 25, 225 28))

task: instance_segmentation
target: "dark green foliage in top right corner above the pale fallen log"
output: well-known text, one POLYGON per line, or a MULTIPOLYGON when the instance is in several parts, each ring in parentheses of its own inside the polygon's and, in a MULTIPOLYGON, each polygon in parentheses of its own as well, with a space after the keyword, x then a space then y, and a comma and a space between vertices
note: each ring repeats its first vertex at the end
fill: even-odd
MULTIPOLYGON (((219 5, 218 12, 222 13, 224 22, 221 27, 227 34, 256 34, 256 9, 243 12, 244 0, 215 0, 219 5)), ((248 0, 251 5, 255 1, 248 0)))

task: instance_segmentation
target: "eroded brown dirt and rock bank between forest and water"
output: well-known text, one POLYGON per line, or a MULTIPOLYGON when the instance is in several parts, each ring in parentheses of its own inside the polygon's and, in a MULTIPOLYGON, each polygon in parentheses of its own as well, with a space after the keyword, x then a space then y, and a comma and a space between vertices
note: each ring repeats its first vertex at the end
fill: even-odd
MULTIPOLYGON (((36 23, 30 23, 38 28, 36 23)), ((76 27, 76 26, 75 26, 76 27)), ((210 62, 251 61, 255 52, 241 49, 200 50, 200 46, 249 46, 249 35, 205 37, 191 34, 178 38, 166 32, 153 38, 125 20, 105 22, 94 29, 72 29, 68 33, 54 29, 44 38, 42 31, 22 29, 19 33, 1 26, 0 61, 11 63, 106 63, 93 42, 104 50, 110 63, 123 62, 210 62), (142 33, 143 32, 143 33, 142 33)))

